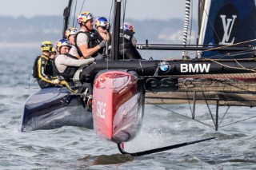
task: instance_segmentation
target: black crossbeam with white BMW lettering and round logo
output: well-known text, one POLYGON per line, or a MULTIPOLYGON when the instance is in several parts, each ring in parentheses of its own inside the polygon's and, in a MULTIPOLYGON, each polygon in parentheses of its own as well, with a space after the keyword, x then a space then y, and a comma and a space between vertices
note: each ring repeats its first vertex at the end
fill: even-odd
POLYGON ((96 72, 103 69, 128 69, 134 70, 139 76, 168 76, 168 75, 194 75, 215 73, 254 73, 256 60, 118 60, 98 61, 96 72), (164 70, 162 67, 166 67, 164 70))

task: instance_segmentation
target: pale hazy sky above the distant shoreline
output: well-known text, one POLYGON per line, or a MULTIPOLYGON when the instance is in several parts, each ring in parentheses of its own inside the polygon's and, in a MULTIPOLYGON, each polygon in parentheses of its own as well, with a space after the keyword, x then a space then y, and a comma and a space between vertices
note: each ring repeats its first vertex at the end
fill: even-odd
MULTIPOLYGON (((69 0, 0 0, 0 16, 32 18, 36 15, 60 15, 69 0)), ((112 0, 77 0, 78 8, 75 15, 81 10, 90 11, 97 16, 109 18, 112 0)), ((193 6, 197 7, 198 0, 192 0, 193 6)), ((195 12, 193 18, 197 18, 195 12)), ((184 18, 185 0, 126 0, 126 18, 145 20, 170 18, 184 18)))

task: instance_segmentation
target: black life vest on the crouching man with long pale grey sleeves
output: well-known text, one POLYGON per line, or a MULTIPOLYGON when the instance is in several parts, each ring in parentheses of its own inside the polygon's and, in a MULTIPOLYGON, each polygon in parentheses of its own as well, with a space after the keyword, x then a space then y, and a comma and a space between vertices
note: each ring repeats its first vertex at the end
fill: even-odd
MULTIPOLYGON (((67 57, 71 57, 71 58, 73 58, 73 59, 78 60, 77 57, 74 57, 74 56, 71 55, 70 53, 65 53, 65 55, 66 55, 67 57)), ((58 56, 57 56, 57 57, 58 57, 58 56)), ((57 57, 55 57, 55 58, 57 58, 57 57)), ((73 77, 74 77, 74 73, 78 70, 78 67, 66 65, 66 69, 64 70, 64 72, 63 72, 63 73, 60 73, 60 72, 58 71, 58 69, 57 69, 55 63, 54 63, 53 66, 54 66, 54 71, 55 71, 56 73, 58 73, 58 75, 64 77, 65 80, 68 81, 68 82, 72 81, 72 79, 73 79, 73 77)))

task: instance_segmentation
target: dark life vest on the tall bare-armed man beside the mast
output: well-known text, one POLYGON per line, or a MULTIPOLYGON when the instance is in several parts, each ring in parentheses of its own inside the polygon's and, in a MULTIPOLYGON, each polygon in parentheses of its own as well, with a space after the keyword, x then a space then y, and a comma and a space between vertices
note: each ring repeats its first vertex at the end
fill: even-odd
MULTIPOLYGON (((94 48, 95 46, 99 45, 102 42, 102 36, 98 33, 97 30, 92 30, 89 33, 84 32, 84 31, 79 31, 78 34, 86 34, 86 36, 88 37, 88 48, 94 48)), ((74 42, 75 42, 75 47, 78 49, 78 54, 80 57, 82 57, 82 52, 78 47, 78 43, 77 43, 77 38, 78 38, 78 34, 75 35, 74 37, 74 42)), ((97 53, 94 53, 93 55, 91 55, 91 57, 96 57, 98 56, 98 54, 103 54, 104 53, 104 49, 99 49, 97 53)))

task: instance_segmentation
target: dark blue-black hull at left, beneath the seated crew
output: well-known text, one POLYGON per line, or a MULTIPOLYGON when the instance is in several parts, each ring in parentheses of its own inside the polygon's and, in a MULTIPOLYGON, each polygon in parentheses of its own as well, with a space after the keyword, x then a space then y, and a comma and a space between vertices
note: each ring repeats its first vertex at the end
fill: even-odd
POLYGON ((93 129, 92 113, 87 112, 82 98, 67 89, 47 88, 32 94, 26 101, 22 132, 78 126, 93 129))

